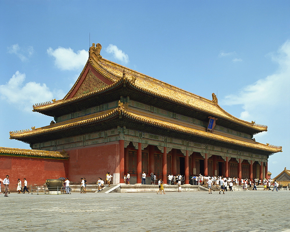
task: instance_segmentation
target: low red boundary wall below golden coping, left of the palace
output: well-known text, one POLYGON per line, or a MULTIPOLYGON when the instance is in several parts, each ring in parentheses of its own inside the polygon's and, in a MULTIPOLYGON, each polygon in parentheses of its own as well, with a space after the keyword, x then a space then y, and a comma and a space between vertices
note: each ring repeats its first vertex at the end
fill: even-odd
MULTIPOLYGON (((68 175, 68 160, 53 160, 15 156, 0 156, 0 178, 9 175, 9 189, 16 192, 17 179, 23 186, 23 178, 28 185, 44 185, 46 179, 58 179, 68 175)), ((4 186, 1 184, 3 192, 4 186)))

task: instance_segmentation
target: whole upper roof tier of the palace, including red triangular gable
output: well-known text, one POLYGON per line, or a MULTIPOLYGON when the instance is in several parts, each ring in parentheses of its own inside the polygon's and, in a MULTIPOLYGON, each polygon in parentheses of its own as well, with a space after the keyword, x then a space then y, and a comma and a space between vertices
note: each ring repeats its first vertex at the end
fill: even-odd
POLYGON ((209 100, 106 60, 100 55, 101 48, 100 44, 97 44, 96 47, 93 44, 90 47, 90 55, 86 66, 64 99, 36 104, 33 106, 33 111, 55 116, 55 112, 63 112, 61 109, 64 107, 87 101, 96 96, 102 96, 126 86, 134 91, 142 92, 142 94, 158 97, 164 101, 245 127, 250 129, 252 133, 267 131, 267 126, 265 125, 255 124, 253 121, 247 122, 227 113, 218 105, 218 99, 215 94, 212 94, 213 99, 209 100))

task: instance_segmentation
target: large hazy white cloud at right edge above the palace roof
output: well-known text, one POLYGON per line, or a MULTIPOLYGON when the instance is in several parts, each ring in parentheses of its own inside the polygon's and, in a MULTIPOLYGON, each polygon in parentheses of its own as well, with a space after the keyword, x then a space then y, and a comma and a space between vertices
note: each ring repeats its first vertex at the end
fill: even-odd
POLYGON ((276 55, 271 56, 279 65, 274 74, 247 85, 238 94, 226 96, 223 101, 225 105, 241 104, 244 109, 241 119, 251 122, 264 115, 275 120, 280 117, 279 112, 281 114, 282 110, 289 112, 290 41, 285 42, 276 55))

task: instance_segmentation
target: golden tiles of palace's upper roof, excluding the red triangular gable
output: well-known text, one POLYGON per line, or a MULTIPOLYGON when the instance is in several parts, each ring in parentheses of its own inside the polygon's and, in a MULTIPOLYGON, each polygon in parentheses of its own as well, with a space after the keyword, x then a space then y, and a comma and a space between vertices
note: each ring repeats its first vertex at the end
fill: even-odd
POLYGON ((157 80, 153 77, 139 73, 133 69, 129 69, 112 61, 106 60, 100 55, 101 48, 102 46, 100 44, 97 44, 96 47, 95 44, 93 44, 93 47, 90 47, 90 57, 88 58, 86 66, 81 72, 76 83, 73 85, 73 88, 68 92, 64 99, 58 101, 54 100, 52 103, 46 102, 37 104, 33 106, 33 111, 42 112, 58 106, 62 106, 64 104, 76 102, 79 99, 86 98, 93 94, 105 92, 106 90, 123 82, 128 84, 128 86, 131 88, 147 92, 148 94, 152 94, 154 96, 162 97, 176 104, 181 104, 185 107, 208 113, 209 115, 224 119, 226 121, 234 122, 258 132, 267 131, 267 126, 265 125, 255 124, 253 121, 247 122, 227 113, 218 105, 218 99, 215 94, 212 94, 213 100, 209 100, 163 81, 157 80), (112 81, 113 84, 107 85, 104 88, 100 88, 92 92, 88 92, 81 96, 70 98, 70 93, 72 93, 72 91, 76 88, 77 83, 79 83, 83 77, 83 73, 88 65, 91 65, 96 72, 112 81))

